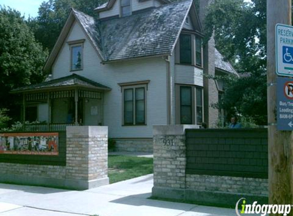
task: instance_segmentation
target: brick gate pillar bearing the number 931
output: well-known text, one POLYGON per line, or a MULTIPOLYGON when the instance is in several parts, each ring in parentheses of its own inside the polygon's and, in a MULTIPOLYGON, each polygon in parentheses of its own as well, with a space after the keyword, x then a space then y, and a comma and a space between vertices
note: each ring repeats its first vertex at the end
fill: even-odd
POLYGON ((185 200, 186 128, 198 126, 153 126, 153 197, 185 200))

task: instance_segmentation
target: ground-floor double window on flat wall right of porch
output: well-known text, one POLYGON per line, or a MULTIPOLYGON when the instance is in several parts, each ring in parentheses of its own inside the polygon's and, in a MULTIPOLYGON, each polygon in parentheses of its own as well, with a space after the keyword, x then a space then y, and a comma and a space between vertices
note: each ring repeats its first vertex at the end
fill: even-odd
POLYGON ((120 84, 122 88, 123 125, 146 125, 146 92, 148 81, 137 85, 120 84))

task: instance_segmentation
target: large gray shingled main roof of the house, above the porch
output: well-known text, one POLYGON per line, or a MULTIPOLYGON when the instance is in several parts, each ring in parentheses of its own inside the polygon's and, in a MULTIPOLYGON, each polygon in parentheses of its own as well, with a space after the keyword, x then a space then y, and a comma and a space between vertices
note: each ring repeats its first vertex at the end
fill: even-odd
POLYGON ((104 61, 171 55, 192 0, 151 8, 131 16, 97 20, 74 10, 104 61))

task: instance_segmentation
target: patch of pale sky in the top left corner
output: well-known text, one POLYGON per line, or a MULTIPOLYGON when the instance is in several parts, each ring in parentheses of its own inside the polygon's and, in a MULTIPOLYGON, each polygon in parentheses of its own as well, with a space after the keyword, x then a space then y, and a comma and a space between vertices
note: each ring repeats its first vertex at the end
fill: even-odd
POLYGON ((0 5, 16 9, 21 15, 28 18, 29 15, 31 17, 38 15, 38 9, 42 2, 45 0, 0 0, 0 5))

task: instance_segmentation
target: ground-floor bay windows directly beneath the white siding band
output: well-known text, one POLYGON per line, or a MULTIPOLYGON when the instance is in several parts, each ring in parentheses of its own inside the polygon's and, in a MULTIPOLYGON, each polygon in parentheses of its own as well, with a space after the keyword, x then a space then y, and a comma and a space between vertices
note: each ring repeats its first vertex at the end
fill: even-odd
POLYGON ((202 88, 195 85, 176 85, 177 124, 201 124, 204 120, 202 88))

